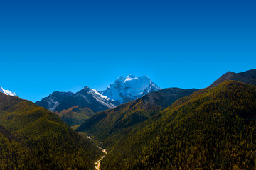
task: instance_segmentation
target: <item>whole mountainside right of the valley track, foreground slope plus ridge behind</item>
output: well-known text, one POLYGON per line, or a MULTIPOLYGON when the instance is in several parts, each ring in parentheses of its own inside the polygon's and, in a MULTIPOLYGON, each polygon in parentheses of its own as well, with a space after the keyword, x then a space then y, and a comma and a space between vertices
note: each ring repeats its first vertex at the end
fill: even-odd
POLYGON ((107 149, 102 169, 255 169, 255 72, 228 72, 206 89, 149 93, 92 115, 77 131, 107 149))

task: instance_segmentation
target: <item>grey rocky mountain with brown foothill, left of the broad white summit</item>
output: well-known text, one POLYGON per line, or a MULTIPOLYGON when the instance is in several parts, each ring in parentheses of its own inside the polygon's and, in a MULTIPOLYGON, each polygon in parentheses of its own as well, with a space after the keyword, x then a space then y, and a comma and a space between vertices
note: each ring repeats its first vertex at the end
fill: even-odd
POLYGON ((100 94, 100 91, 90 89, 88 86, 75 94, 55 91, 36 104, 55 112, 71 126, 80 125, 98 111, 115 107, 110 99, 100 94))

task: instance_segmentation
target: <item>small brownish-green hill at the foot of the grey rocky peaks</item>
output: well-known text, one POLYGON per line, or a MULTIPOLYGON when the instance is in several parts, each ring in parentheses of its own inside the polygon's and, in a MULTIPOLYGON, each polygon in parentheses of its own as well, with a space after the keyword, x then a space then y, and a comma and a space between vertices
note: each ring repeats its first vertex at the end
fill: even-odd
POLYGON ((90 108, 79 108, 79 106, 73 106, 67 110, 56 112, 60 116, 61 120, 68 123, 70 126, 81 125, 88 118, 95 113, 90 108))

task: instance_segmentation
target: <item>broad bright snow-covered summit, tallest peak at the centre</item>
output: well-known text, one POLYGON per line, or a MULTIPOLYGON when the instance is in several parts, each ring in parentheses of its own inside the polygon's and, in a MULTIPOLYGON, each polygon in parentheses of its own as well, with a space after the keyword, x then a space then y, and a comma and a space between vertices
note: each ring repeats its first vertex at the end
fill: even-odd
POLYGON ((161 88, 154 84, 149 77, 129 75, 127 77, 119 77, 114 81, 114 84, 111 84, 105 91, 101 91, 101 94, 112 99, 118 105, 159 90, 161 88))

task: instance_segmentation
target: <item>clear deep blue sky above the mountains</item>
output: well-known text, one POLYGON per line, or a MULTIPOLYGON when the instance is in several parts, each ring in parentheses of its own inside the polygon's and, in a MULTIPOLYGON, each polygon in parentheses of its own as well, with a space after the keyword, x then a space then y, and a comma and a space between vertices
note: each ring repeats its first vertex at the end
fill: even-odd
POLYGON ((203 88, 255 69, 256 1, 0 1, 0 86, 38 101, 119 76, 203 88))

